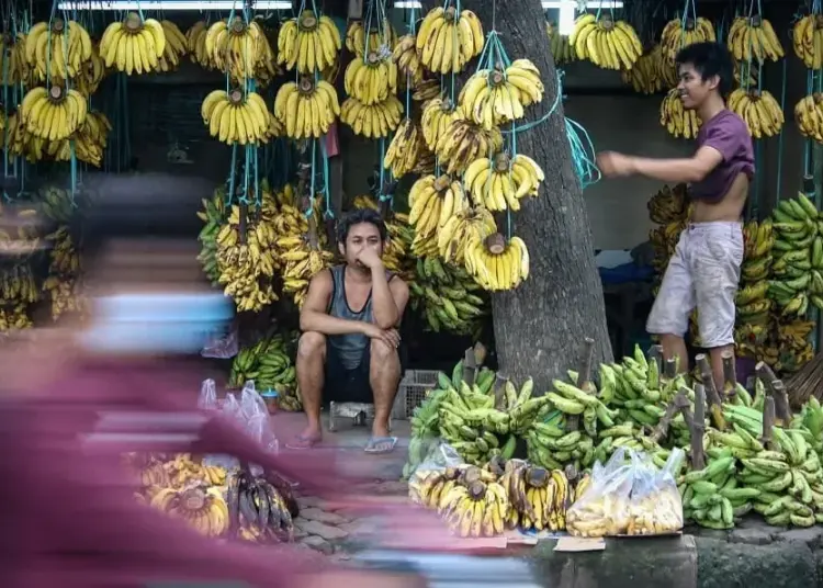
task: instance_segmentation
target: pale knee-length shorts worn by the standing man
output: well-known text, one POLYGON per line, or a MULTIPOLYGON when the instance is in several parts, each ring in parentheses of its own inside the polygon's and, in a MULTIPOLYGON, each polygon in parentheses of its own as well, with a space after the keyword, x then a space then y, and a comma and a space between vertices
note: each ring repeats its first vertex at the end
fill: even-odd
POLYGON ((694 223, 680 234, 649 315, 652 335, 683 337, 697 307, 702 347, 734 343, 734 298, 743 263, 740 223, 694 223))

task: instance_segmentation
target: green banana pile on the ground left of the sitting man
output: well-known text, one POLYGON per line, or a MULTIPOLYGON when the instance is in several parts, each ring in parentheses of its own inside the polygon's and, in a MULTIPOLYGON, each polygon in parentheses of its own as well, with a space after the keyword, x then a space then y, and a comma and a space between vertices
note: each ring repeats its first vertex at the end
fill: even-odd
POLYGON ((229 386, 238 387, 251 380, 260 393, 277 391, 279 405, 283 410, 301 410, 296 372, 292 362, 295 340, 295 333, 279 333, 240 349, 232 365, 229 386))

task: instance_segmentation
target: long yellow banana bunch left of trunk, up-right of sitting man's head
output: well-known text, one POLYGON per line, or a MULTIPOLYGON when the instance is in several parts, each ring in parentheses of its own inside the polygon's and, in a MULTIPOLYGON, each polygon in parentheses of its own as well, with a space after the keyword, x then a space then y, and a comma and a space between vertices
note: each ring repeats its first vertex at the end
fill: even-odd
POLYGON ((415 228, 412 250, 418 252, 421 244, 437 242, 440 229, 456 212, 469 205, 463 186, 449 176, 424 176, 408 192, 408 224, 415 228))

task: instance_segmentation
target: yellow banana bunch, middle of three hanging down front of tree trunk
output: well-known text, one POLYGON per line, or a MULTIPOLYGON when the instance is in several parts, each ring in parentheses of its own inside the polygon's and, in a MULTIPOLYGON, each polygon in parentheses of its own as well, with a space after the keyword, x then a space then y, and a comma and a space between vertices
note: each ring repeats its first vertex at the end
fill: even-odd
POLYGON ((485 206, 492 212, 519 211, 520 199, 537 196, 545 179, 537 162, 522 154, 509 158, 497 154, 492 158, 475 159, 463 174, 475 206, 485 206))

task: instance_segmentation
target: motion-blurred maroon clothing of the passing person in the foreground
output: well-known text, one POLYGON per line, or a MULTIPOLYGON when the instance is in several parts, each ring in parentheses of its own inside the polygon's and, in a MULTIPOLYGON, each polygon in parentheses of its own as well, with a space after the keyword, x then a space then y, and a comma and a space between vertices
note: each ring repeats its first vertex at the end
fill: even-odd
POLYGON ((285 587, 295 585, 295 573, 326 565, 314 552, 204 538, 135 500, 137 480, 122 465, 124 452, 219 452, 282 465, 224 419, 192 410, 198 389, 196 374, 185 370, 97 364, 49 389, 0 400, 3 588, 120 588, 160 580, 285 587), (106 411, 173 418, 142 433, 133 427, 100 433, 95 428, 106 411))

